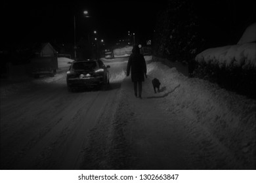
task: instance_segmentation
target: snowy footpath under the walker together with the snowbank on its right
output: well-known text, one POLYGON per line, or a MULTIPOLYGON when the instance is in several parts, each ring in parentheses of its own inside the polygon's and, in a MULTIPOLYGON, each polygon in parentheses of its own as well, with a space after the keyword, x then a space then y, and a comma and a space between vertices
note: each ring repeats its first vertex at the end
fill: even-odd
POLYGON ((83 169, 255 169, 256 101, 159 62, 147 67, 142 99, 123 80, 116 114, 93 129, 83 169))

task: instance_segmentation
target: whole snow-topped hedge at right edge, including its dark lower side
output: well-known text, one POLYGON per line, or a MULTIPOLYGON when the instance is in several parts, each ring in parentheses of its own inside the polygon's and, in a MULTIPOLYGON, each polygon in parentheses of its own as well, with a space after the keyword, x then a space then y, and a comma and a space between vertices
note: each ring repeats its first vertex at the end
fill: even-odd
POLYGON ((209 48, 198 54, 194 76, 256 97, 255 26, 250 25, 245 30, 238 44, 209 48))

